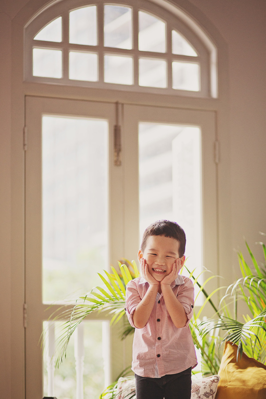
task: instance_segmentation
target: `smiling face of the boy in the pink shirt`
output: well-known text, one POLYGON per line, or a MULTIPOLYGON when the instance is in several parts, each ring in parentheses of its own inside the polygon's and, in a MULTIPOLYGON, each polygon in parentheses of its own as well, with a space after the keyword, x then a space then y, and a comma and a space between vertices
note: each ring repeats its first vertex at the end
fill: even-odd
MULTIPOLYGON (((171 273, 174 262, 179 258, 179 245, 179 241, 175 238, 165 237, 164 235, 150 235, 147 238, 144 251, 139 250, 139 261, 141 262, 141 259, 144 258, 152 277, 157 281, 162 281, 165 276, 171 273)), ((181 267, 184 261, 185 256, 182 256, 181 267)))

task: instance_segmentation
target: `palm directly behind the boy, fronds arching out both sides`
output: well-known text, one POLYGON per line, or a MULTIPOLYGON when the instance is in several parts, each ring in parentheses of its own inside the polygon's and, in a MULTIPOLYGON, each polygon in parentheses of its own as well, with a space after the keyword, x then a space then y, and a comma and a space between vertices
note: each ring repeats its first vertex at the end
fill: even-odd
MULTIPOLYGON (((54 317, 54 319, 67 319, 64 323, 64 327, 57 345, 57 348, 59 350, 59 356, 56 359, 57 367, 59 367, 63 358, 66 356, 67 346, 70 337, 72 336, 78 325, 90 313, 99 311, 104 312, 106 315, 111 315, 111 323, 113 324, 117 323, 125 315, 124 308, 126 285, 128 281, 130 281, 132 278, 138 277, 140 274, 135 261, 130 262, 127 259, 124 259, 124 261, 126 264, 121 264, 121 262, 118 262, 121 273, 120 275, 114 267, 111 267, 112 274, 107 272, 106 270, 104 271, 107 279, 105 276, 98 273, 99 277, 104 283, 104 288, 100 286, 95 287, 86 296, 78 298, 76 305, 72 309, 62 311, 58 316, 54 317)), ((183 267, 183 270, 184 268, 186 268, 186 266, 183 267)), ((189 272, 188 269, 187 271, 189 272)), ((196 277, 194 276, 195 270, 191 273, 189 272, 189 277, 194 281, 194 284, 198 285, 199 287, 199 292, 197 294, 196 300, 200 293, 203 293, 203 295, 205 296, 205 301, 200 307, 198 313, 194 313, 194 316, 190 322, 190 328, 194 344, 201 353, 203 374, 210 375, 217 374, 219 369, 220 360, 217 354, 217 341, 219 341, 219 336, 216 334, 214 336, 208 336, 202 339, 199 336, 198 326, 200 324, 200 316, 207 303, 211 304, 214 312, 218 312, 216 306, 212 301, 212 296, 218 290, 220 290, 221 287, 217 288, 209 295, 205 290, 205 286, 209 281, 215 278, 215 276, 207 278, 205 282, 201 285, 199 283, 200 275, 206 272, 208 272, 208 270, 204 270, 196 277)), ((122 332, 121 339, 124 339, 127 335, 132 334, 133 332, 134 328, 130 326, 126 318, 125 328, 122 332)))

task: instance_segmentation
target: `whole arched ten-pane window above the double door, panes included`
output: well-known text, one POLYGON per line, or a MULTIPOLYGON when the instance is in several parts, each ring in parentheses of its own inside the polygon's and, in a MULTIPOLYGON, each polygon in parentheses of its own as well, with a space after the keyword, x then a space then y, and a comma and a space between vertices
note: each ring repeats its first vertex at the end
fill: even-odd
POLYGON ((210 65, 197 34, 146 1, 61 1, 25 27, 29 81, 211 96, 210 65))

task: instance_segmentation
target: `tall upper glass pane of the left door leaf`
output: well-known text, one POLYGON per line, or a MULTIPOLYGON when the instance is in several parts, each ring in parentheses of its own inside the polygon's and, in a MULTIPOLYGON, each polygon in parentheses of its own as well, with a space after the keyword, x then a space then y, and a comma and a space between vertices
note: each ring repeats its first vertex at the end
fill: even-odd
POLYGON ((107 140, 105 120, 42 118, 44 302, 76 299, 108 267, 107 140))

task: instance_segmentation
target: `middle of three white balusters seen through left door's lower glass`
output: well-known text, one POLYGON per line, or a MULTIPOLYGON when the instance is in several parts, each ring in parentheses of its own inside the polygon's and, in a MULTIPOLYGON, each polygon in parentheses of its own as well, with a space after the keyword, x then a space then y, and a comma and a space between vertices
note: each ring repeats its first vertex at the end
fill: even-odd
POLYGON ((76 399, 83 399, 83 372, 84 372, 84 325, 80 323, 75 330, 75 361, 76 361, 76 399))

